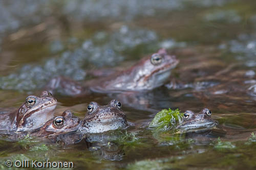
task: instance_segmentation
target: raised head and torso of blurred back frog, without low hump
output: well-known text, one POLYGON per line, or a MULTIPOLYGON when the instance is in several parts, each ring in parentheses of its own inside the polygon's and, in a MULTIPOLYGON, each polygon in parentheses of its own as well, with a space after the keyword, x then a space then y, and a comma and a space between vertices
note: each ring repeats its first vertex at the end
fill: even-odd
POLYGON ((164 49, 144 57, 129 69, 93 81, 95 92, 152 90, 162 86, 179 60, 164 49), (99 83, 100 82, 100 83, 99 83))

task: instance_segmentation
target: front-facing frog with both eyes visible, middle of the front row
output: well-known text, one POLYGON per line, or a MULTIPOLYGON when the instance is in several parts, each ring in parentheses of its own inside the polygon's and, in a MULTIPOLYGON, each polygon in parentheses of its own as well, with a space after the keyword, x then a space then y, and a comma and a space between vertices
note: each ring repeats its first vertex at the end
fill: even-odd
POLYGON ((112 100, 105 106, 91 102, 87 109, 87 115, 82 120, 78 132, 102 133, 127 127, 126 116, 121 110, 121 103, 117 100, 112 100))

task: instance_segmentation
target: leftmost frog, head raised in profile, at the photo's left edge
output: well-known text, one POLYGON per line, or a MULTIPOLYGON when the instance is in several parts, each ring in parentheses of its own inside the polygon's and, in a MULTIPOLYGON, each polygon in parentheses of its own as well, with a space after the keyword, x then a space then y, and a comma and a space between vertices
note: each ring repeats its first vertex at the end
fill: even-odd
POLYGON ((57 101, 48 91, 30 95, 15 111, 0 110, 0 131, 25 132, 40 128, 53 118, 57 101))

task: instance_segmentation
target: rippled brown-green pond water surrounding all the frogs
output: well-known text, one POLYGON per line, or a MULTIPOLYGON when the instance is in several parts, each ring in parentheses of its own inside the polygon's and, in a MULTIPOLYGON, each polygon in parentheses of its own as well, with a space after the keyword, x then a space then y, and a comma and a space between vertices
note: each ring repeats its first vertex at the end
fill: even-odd
POLYGON ((87 169, 255 169, 255 7, 251 0, 0 2, 0 108, 18 108, 53 77, 87 81, 94 70, 122 70, 160 47, 180 60, 165 86, 146 93, 55 95, 56 115, 70 109, 81 118, 89 102, 119 98, 132 126, 51 140, 2 136, 1 169, 22 159, 87 169), (210 131, 146 128, 161 109, 204 107, 219 122, 210 131))

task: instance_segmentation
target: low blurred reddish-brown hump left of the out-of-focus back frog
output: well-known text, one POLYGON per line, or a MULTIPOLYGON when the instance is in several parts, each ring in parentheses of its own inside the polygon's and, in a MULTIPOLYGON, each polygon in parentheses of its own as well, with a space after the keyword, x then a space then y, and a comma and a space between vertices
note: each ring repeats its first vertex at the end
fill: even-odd
POLYGON ((90 91, 79 82, 65 77, 51 79, 45 86, 45 90, 51 93, 70 96, 86 95, 90 93, 90 91))

